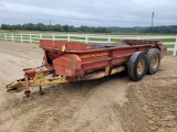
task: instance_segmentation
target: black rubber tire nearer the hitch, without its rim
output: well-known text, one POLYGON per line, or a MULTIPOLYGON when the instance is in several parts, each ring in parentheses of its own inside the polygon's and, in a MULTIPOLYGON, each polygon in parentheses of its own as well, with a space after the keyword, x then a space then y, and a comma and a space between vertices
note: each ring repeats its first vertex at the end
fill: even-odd
POLYGON ((127 68, 127 72, 128 72, 128 76, 132 80, 134 81, 138 81, 140 79, 143 79, 143 77, 145 76, 146 74, 146 70, 147 70, 147 57, 145 55, 145 53, 142 53, 142 52, 135 52, 129 61, 128 61, 128 68, 127 68), (144 70, 142 74, 138 74, 137 73, 137 67, 138 67, 138 63, 144 59, 145 62, 145 66, 144 66, 144 70))

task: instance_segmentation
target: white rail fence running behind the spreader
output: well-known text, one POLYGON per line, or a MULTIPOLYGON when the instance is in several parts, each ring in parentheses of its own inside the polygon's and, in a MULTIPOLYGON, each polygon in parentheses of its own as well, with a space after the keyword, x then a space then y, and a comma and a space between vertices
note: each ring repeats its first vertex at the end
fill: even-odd
POLYGON ((12 42, 39 43, 40 40, 60 40, 83 43, 113 43, 121 40, 162 40, 176 56, 177 36, 175 35, 97 35, 97 34, 51 34, 51 33, 0 33, 0 40, 12 42))

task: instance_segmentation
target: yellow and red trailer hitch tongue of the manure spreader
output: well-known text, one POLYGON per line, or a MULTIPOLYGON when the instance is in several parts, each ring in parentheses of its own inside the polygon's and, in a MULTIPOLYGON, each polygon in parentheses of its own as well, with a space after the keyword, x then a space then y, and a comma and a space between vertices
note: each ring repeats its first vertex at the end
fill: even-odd
POLYGON ((20 92, 24 90, 27 98, 30 97, 31 90, 30 87, 39 86, 40 95, 43 95, 42 86, 43 85, 51 85, 51 84, 63 84, 70 81, 66 77, 55 77, 51 79, 44 78, 48 75, 52 74, 51 69, 45 70, 35 70, 35 69, 28 69, 24 70, 24 78, 14 80, 11 84, 7 85, 7 91, 12 92, 20 92))

